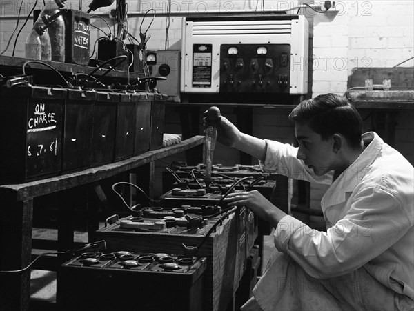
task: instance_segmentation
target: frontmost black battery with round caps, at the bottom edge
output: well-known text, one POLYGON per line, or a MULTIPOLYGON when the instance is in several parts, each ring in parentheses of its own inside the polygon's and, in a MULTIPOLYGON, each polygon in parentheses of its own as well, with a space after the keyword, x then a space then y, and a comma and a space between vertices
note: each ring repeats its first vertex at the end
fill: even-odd
POLYGON ((203 310, 206 258, 88 252, 61 265, 59 310, 203 310))

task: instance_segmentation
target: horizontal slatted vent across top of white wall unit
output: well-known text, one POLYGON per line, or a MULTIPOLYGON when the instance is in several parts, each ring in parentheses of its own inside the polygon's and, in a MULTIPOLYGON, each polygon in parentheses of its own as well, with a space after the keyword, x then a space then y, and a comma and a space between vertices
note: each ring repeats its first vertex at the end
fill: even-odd
POLYGON ((194 21, 193 36, 286 35, 292 21, 194 21))

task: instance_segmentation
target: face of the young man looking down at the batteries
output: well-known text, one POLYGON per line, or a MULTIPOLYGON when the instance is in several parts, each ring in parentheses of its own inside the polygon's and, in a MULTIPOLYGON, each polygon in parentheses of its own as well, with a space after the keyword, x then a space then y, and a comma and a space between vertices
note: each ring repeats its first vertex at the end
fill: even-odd
POLYGON ((315 133, 303 123, 295 124, 295 133, 299 142, 297 159, 303 160, 317 176, 322 176, 334 169, 333 139, 322 140, 320 134, 315 133))

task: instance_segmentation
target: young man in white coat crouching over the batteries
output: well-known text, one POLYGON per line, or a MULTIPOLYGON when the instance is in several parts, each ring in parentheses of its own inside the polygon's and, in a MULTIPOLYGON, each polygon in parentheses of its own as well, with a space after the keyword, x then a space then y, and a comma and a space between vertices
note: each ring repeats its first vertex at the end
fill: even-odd
POLYGON ((218 141, 259 159, 266 172, 330 184, 326 232, 285 214, 256 190, 237 192, 275 228, 266 272, 242 310, 414 310, 414 169, 346 98, 324 94, 290 114, 299 148, 239 132, 225 117, 218 141), (299 175, 299 178, 298 178, 299 175))

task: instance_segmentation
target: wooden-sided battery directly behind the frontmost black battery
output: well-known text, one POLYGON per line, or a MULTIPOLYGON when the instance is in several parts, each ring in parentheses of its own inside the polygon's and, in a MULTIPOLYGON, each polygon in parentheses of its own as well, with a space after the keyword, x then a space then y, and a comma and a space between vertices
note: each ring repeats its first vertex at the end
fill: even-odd
POLYGON ((246 208, 235 208, 227 216, 212 215, 204 222, 205 217, 199 215, 199 210, 202 214, 204 209, 208 210, 208 207, 188 205, 174 209, 144 208, 142 217, 119 219, 97 230, 95 237, 105 240, 108 248, 128 251, 185 254, 184 245, 187 248, 197 247, 197 256, 206 257, 207 267, 204 277, 204 308, 194 310, 223 310, 233 298, 246 269, 248 252, 257 237, 257 220, 246 208), (167 226, 168 219, 175 217, 163 217, 163 214, 168 214, 168 211, 174 214, 179 210, 188 212, 188 220, 196 224, 186 227, 181 223, 180 217, 175 225, 167 226), (162 218, 156 218, 157 214, 162 218), (197 223, 199 220, 202 225, 197 223), (207 236, 212 229, 214 230, 207 236), (204 244, 201 245, 202 241, 204 244))

